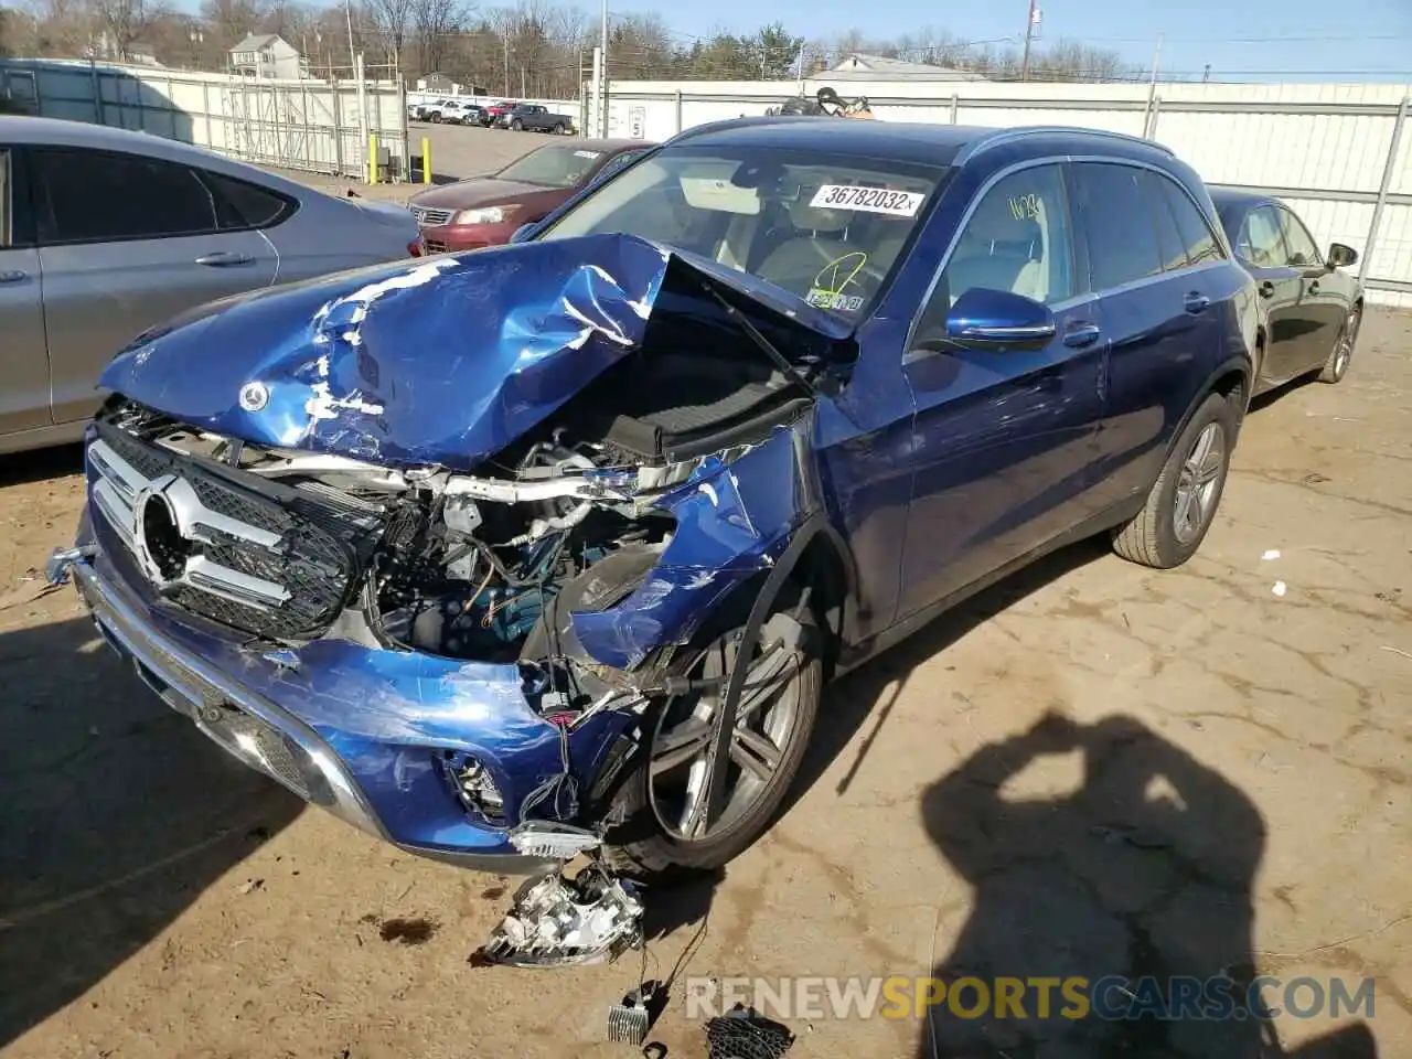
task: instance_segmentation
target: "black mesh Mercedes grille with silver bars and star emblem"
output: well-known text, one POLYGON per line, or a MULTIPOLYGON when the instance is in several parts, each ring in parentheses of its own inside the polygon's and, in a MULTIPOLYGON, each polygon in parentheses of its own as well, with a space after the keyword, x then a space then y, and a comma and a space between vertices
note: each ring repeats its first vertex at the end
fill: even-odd
POLYGON ((171 603, 244 633, 298 640, 326 628, 353 590, 357 565, 343 527, 312 500, 280 503, 273 486, 244 489, 110 424, 99 425, 88 465, 93 510, 171 603))

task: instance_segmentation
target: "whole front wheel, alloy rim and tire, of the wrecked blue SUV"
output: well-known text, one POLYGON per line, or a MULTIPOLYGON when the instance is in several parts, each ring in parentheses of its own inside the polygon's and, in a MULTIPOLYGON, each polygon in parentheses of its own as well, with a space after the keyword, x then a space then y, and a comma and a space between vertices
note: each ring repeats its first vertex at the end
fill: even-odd
MULTIPOLYGON (((741 633, 743 626, 699 647, 683 674, 703 682, 729 676, 741 633)), ((609 809, 620 820, 604 847, 616 870, 635 877, 709 871, 765 833, 813 734, 823 689, 816 633, 808 604, 781 607, 762 626, 719 791, 712 751, 724 686, 652 705, 645 746, 609 809)))

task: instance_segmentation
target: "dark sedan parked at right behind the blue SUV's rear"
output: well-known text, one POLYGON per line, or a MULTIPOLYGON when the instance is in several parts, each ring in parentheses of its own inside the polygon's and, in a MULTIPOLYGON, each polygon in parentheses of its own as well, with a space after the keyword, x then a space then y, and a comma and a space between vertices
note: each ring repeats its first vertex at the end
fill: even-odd
POLYGON ((1211 188, 1211 199, 1260 289, 1254 393, 1313 373, 1340 381, 1363 321, 1363 287, 1340 270, 1357 264, 1358 251, 1332 243, 1320 254, 1309 227, 1279 199, 1230 188, 1211 188))

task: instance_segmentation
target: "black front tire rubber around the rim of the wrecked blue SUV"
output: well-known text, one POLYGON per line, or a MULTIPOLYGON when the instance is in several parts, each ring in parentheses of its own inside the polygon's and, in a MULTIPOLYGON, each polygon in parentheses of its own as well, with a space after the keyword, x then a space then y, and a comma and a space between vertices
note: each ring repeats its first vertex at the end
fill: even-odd
MULTIPOLYGON (((771 623, 779 620, 792 621, 795 618, 794 610, 788 603, 781 600, 779 607, 771 614, 770 621, 761 630, 760 642, 765 644, 768 641, 770 633, 767 630, 771 623)), ((618 782, 607 808, 607 819, 617 823, 609 827, 603 857, 614 871, 633 878, 664 878, 713 871, 740 856, 770 829, 781 802, 799 774, 799 765, 803 761, 809 738, 813 734, 819 699, 823 690, 823 664, 820 661, 822 652, 818 648, 818 621, 808 607, 798 614, 798 621, 802 627, 798 641, 801 647, 792 655, 792 665, 786 664, 785 666, 789 675, 786 678, 782 676, 779 683, 771 688, 770 696, 765 700, 767 705, 762 703, 758 707, 758 713, 751 717, 753 722, 760 720, 762 726, 768 724, 768 719, 778 705, 792 702, 792 722, 789 723, 788 736, 784 738, 784 746, 775 744, 772 741, 774 737, 770 737, 771 746, 779 751, 779 762, 770 778, 762 781, 762 786, 744 803, 746 808, 738 812, 736 819, 723 823, 714 833, 693 840, 674 834, 662 822, 662 803, 654 798, 655 788, 651 768, 657 760, 654 751, 658 746, 658 738, 664 734, 664 726, 669 722, 674 712, 679 713, 679 710, 685 709, 688 712, 686 720, 689 722, 692 720, 692 702, 699 703, 702 699, 688 700, 686 696, 682 696, 652 703, 642 719, 647 743, 637 753, 633 764, 628 767, 627 775, 618 782)), ((740 626, 743 624, 744 621, 740 623, 740 626)), ((700 664, 707 661, 712 648, 723 640, 738 634, 740 626, 714 635, 709 642, 699 642, 693 652, 683 652, 692 661, 682 672, 699 672, 700 664)), ((720 626, 716 626, 716 628, 719 631, 720 626)), ((757 664, 760 661, 760 658, 755 659, 757 664)), ((741 698, 744 700, 746 696, 743 695, 741 698)), ((710 726, 709 720, 699 722, 699 724, 705 724, 710 731, 714 731, 714 726, 710 726)), ((738 768, 738 765, 734 765, 734 768, 738 768)), ((744 774, 746 770, 740 768, 734 779, 737 786, 733 786, 733 794, 740 792, 741 788, 738 784, 744 774)), ((672 772, 666 775, 672 775, 672 772)), ((727 805, 726 813, 730 812, 731 806, 727 805)))

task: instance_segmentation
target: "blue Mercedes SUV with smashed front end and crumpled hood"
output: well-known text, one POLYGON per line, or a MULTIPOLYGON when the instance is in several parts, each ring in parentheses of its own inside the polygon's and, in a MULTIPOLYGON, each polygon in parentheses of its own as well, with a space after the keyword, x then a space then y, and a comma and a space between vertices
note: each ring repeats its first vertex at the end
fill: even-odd
POLYGON ((705 126, 514 246, 123 352, 49 572, 206 734, 404 849, 710 868, 825 681, 1065 542, 1192 556, 1255 302, 1142 140, 705 126))

